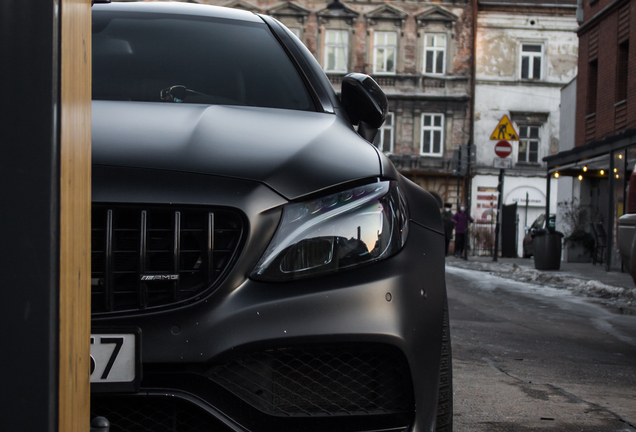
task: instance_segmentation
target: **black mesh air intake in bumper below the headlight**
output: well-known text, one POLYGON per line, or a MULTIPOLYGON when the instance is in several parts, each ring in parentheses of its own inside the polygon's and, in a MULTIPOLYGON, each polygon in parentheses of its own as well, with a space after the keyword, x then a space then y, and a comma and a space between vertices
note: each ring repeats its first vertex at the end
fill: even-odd
POLYGON ((276 416, 351 416, 412 411, 408 364, 391 346, 277 349, 213 369, 211 378, 276 416))

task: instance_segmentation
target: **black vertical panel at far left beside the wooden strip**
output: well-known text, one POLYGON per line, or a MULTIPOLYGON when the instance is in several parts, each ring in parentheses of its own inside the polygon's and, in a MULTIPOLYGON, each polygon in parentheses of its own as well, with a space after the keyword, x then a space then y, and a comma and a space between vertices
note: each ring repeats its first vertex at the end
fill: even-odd
POLYGON ((55 0, 0 9, 0 429, 57 431, 58 23, 55 0))

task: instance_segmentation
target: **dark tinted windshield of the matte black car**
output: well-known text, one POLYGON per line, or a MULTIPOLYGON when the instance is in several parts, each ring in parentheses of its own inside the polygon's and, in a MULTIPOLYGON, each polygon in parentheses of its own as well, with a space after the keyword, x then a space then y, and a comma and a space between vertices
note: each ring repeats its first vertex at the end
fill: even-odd
POLYGON ((93 99, 316 110, 264 23, 167 14, 93 13, 93 99))

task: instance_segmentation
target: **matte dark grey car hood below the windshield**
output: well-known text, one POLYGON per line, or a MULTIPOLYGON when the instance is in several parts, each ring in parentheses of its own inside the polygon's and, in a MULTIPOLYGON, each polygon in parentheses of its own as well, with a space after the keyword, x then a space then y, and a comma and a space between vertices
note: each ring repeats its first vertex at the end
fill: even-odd
POLYGON ((333 114, 94 101, 93 164, 220 175, 287 199, 380 175, 376 149, 333 114))

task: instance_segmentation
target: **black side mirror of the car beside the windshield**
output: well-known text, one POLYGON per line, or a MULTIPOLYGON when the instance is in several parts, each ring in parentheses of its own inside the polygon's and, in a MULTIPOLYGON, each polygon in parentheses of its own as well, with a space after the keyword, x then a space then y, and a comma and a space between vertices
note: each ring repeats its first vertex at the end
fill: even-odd
POLYGON ((389 110, 380 86, 369 75, 350 73, 342 79, 340 100, 353 124, 358 125, 358 133, 373 142, 389 110))

